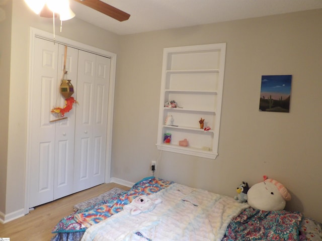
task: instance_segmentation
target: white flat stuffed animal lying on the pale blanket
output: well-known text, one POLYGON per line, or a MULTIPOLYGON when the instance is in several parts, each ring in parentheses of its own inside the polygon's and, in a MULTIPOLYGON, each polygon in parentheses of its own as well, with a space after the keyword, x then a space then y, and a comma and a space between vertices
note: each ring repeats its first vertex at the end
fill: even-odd
POLYGON ((149 212, 154 209, 154 207, 161 203, 162 200, 160 198, 150 199, 146 195, 141 195, 136 198, 130 203, 124 206, 124 209, 130 210, 132 215, 137 215, 141 212, 149 212))

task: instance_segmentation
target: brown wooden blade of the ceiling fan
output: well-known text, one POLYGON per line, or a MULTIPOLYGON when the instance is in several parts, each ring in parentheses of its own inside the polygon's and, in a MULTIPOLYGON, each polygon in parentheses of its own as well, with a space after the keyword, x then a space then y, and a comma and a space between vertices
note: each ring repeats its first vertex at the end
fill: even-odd
POLYGON ((128 20, 130 15, 99 0, 74 0, 77 3, 95 9, 120 22, 128 20))

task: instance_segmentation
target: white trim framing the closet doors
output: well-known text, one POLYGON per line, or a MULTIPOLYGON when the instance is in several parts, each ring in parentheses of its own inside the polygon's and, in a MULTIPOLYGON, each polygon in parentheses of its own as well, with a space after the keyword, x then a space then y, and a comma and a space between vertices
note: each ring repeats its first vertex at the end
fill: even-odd
MULTIPOLYGON (((52 33, 48 33, 36 28, 30 28, 30 45, 29 45, 29 76, 28 76, 28 110, 32 107, 32 99, 30 96, 31 87, 33 84, 33 76, 32 76, 32 69, 33 69, 33 52, 35 48, 34 39, 35 37, 43 38, 49 41, 53 41, 52 33)), ((109 102, 108 102, 108 116, 107 116, 107 140, 106 140, 106 164, 105 164, 105 182, 110 182, 111 177, 111 152, 112 152, 112 129, 113 129, 113 112, 114 112, 114 88, 115 88, 115 73, 116 73, 116 54, 99 49, 93 46, 89 46, 83 43, 79 43, 64 37, 55 36, 55 42, 61 43, 73 48, 77 48, 80 50, 88 51, 97 55, 102 55, 104 57, 108 57, 111 59, 111 71, 110 71, 110 85, 109 85, 109 102)), ((24 213, 29 213, 29 205, 28 205, 28 191, 29 191, 29 170, 30 170, 30 130, 31 130, 31 122, 32 116, 28 112, 27 116, 27 153, 26 153, 26 180, 25 180, 25 207, 24 213)))

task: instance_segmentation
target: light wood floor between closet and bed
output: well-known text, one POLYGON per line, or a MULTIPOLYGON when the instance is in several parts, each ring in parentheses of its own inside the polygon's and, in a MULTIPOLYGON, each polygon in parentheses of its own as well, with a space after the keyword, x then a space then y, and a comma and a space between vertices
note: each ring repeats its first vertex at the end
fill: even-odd
POLYGON ((51 233, 52 228, 61 218, 73 212, 73 206, 75 204, 96 197, 114 187, 124 190, 129 189, 129 187, 115 183, 104 183, 43 204, 21 218, 5 224, 0 223, 0 237, 10 237, 10 241, 49 241, 54 236, 51 233))

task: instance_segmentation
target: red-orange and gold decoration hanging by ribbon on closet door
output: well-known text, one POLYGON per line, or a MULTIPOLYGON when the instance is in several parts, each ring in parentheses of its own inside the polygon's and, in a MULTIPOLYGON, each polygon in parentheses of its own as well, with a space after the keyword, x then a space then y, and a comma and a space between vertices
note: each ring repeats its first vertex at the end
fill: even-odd
MULTIPOLYGON (((63 118, 65 113, 69 112, 72 109, 72 105, 74 103, 77 103, 77 101, 73 97, 71 97, 71 95, 74 93, 74 87, 70 83, 70 79, 65 78, 67 77, 66 57, 67 57, 67 46, 65 46, 63 78, 61 79, 61 84, 59 88, 61 95, 65 97, 65 105, 63 108, 55 107, 51 110, 52 113, 56 113, 60 118, 63 118)), ((55 121, 58 121, 58 119, 55 121)))

